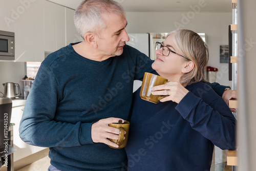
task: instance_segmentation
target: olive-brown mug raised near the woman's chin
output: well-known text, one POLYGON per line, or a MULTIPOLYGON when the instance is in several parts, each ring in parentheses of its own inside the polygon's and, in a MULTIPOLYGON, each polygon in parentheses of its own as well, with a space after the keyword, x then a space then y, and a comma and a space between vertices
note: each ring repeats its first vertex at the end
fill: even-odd
POLYGON ((159 75, 144 73, 142 85, 140 88, 140 98, 146 101, 150 101, 153 103, 158 103, 160 99, 166 97, 161 95, 153 95, 151 89, 154 86, 159 86, 161 84, 165 84, 168 79, 161 77, 159 75))

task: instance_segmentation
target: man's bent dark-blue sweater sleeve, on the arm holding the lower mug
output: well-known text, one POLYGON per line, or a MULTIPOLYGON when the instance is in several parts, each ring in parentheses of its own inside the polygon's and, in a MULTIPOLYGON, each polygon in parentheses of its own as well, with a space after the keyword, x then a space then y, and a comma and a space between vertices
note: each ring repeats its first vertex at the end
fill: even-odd
POLYGON ((43 147, 71 147, 93 143, 92 123, 72 124, 54 120, 59 89, 53 73, 42 63, 20 121, 20 138, 28 144, 43 147))

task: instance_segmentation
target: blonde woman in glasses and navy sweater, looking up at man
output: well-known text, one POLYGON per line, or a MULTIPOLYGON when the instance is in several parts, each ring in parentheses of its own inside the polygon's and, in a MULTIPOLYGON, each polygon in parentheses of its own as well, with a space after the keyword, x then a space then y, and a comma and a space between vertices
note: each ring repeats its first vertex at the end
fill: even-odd
POLYGON ((214 145, 235 149, 236 119, 204 83, 208 46, 179 29, 156 43, 156 55, 152 68, 168 82, 152 94, 167 96, 154 104, 134 93, 128 170, 210 170, 214 145))

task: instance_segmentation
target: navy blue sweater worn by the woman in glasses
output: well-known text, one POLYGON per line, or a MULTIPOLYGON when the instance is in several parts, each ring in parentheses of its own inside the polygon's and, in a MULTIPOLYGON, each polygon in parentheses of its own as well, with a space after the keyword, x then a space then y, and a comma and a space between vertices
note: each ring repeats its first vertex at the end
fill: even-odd
POLYGON ((214 144, 235 149, 236 119, 207 84, 187 86, 179 104, 157 104, 134 93, 128 170, 210 170, 214 144))

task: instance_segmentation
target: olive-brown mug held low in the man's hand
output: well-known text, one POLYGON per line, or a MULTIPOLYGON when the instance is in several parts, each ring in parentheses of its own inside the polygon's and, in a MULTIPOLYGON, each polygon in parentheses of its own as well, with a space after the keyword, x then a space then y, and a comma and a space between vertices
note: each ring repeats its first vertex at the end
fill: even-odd
MULTIPOLYGON (((119 145, 119 147, 117 147, 117 148, 125 147, 127 144, 127 140, 128 140, 130 122, 124 120, 123 123, 110 123, 109 126, 119 129, 119 137, 118 137, 118 140, 110 139, 110 138, 108 138, 108 139, 110 141, 116 143, 117 145, 119 145), (124 131, 126 132, 126 134, 124 134, 124 131), (125 137, 125 138, 123 139, 123 137, 125 137)), ((113 146, 110 146, 110 147, 116 148, 113 146)))

